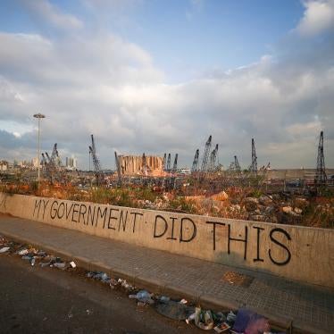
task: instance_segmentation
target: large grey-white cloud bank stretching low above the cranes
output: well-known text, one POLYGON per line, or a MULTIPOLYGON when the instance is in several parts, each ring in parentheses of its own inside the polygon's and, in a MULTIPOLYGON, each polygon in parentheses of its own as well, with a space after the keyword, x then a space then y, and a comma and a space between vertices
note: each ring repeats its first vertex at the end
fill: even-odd
POLYGON ((111 33, 0 33, 0 158, 31 158, 32 114, 41 112, 43 150, 57 142, 60 152, 78 155, 82 167, 91 133, 104 166, 113 166, 112 147, 120 153, 178 152, 180 164, 189 166, 212 134, 224 165, 238 154, 247 166, 255 138, 259 164, 313 167, 320 129, 332 165, 332 37, 316 47, 310 38, 305 53, 296 47, 299 36, 293 38, 284 57, 265 55, 238 69, 168 85, 146 50, 111 33), (4 131, 1 124, 8 122, 29 131, 4 131))

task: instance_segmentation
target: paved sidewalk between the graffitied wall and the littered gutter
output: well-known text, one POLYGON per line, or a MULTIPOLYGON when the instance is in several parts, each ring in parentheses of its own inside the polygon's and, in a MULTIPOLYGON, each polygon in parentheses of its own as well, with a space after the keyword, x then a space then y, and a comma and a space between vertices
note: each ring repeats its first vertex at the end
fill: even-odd
POLYGON ((127 279, 139 288, 186 297, 217 310, 244 305, 282 326, 292 321, 294 332, 330 333, 334 329, 334 291, 328 288, 1 214, 0 234, 75 259, 88 270, 127 279), (246 284, 223 280, 230 271, 246 275, 246 284))

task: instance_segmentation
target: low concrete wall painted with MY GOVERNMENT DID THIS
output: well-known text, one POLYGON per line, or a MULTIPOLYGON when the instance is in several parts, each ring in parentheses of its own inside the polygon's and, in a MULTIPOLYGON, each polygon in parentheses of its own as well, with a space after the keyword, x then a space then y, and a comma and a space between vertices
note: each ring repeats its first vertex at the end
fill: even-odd
POLYGON ((6 194, 0 212, 334 287, 334 230, 6 194))

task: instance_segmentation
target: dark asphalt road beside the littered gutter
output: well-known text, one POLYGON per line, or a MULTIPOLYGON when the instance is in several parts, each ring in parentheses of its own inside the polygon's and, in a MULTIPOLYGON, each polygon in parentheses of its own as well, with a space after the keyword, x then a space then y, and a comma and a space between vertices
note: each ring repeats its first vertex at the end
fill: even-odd
POLYGON ((0 333, 199 333, 76 271, 0 254, 0 333))

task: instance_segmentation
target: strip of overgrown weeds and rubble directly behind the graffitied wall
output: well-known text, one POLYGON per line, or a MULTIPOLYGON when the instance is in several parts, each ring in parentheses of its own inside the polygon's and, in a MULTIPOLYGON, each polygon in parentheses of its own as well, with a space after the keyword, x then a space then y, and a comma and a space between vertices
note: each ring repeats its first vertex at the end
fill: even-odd
MULTIPOLYGON (((195 182, 189 182, 190 187, 195 182)), ((163 193, 150 187, 123 188, 75 188, 52 186, 36 181, 23 183, 13 180, 0 184, 0 191, 7 194, 24 194, 92 202, 103 205, 119 205, 192 213, 232 219, 279 222, 334 228, 333 189, 321 189, 321 196, 298 196, 286 192, 267 194, 262 188, 226 187, 224 191, 202 191, 189 196, 187 188, 163 193)))

